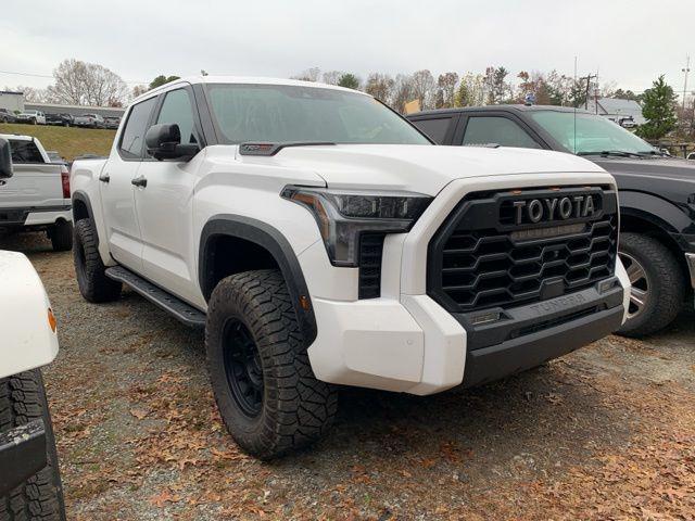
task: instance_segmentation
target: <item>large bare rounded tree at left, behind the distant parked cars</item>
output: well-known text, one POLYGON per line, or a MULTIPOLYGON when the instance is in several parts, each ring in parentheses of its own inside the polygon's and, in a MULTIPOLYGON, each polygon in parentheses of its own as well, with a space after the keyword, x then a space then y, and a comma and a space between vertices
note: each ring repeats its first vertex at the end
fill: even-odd
POLYGON ((106 67, 71 59, 53 71, 49 96, 61 103, 119 106, 130 94, 121 76, 106 67))

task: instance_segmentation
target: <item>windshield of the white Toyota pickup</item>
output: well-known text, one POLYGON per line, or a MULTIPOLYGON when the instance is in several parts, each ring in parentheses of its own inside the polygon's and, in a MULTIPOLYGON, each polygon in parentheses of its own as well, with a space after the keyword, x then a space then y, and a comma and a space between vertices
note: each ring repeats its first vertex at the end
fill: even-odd
POLYGON ((220 140, 431 144, 397 114, 361 93, 320 87, 211 84, 220 140))

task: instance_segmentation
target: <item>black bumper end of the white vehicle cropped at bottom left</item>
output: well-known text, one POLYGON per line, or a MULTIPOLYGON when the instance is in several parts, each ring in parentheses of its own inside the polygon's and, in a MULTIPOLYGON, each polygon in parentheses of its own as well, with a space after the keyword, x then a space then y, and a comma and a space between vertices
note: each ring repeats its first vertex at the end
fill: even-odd
POLYGON ((0 432, 0 497, 4 497, 47 465, 42 420, 0 432))

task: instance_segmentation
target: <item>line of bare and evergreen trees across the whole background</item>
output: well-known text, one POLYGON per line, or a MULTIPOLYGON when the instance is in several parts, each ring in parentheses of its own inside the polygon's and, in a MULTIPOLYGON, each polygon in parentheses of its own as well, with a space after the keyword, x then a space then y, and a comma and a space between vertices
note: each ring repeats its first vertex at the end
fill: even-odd
MULTIPOLYGON (((201 74, 206 75, 204 71, 201 74)), ((371 73, 363 80, 358 75, 343 71, 307 68, 294 79, 323 81, 350 89, 364 90, 394 110, 404 113, 406 103, 417 100, 421 110, 477 106, 500 103, 582 107, 594 96, 634 100, 642 104, 648 120, 639 134, 647 139, 660 139, 678 128, 679 134, 695 134, 695 99, 690 98, 682 107, 673 89, 660 76, 650 89, 642 93, 617 88, 615 82, 599 86, 592 76, 570 77, 555 69, 549 73, 521 71, 516 76, 504 66, 489 66, 484 73, 456 72, 439 75, 429 69, 412 74, 371 73), (680 120, 681 125, 678 125, 680 120)), ((178 76, 159 75, 149 85, 129 89, 116 73, 80 60, 62 61, 53 69, 53 84, 46 89, 15 87, 29 102, 62 103, 87 106, 124 106, 131 99, 178 79, 178 76)), ((5 87, 7 90, 12 90, 5 87)))

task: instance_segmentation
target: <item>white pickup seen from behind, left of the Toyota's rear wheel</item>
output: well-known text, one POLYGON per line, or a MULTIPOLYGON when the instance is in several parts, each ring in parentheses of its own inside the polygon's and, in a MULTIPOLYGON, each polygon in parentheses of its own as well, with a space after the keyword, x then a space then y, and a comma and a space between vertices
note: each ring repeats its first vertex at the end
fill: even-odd
POLYGON ((56 252, 73 246, 70 171, 51 163, 38 139, 1 135, 9 141, 14 176, 0 179, 0 231, 46 231, 56 252))

